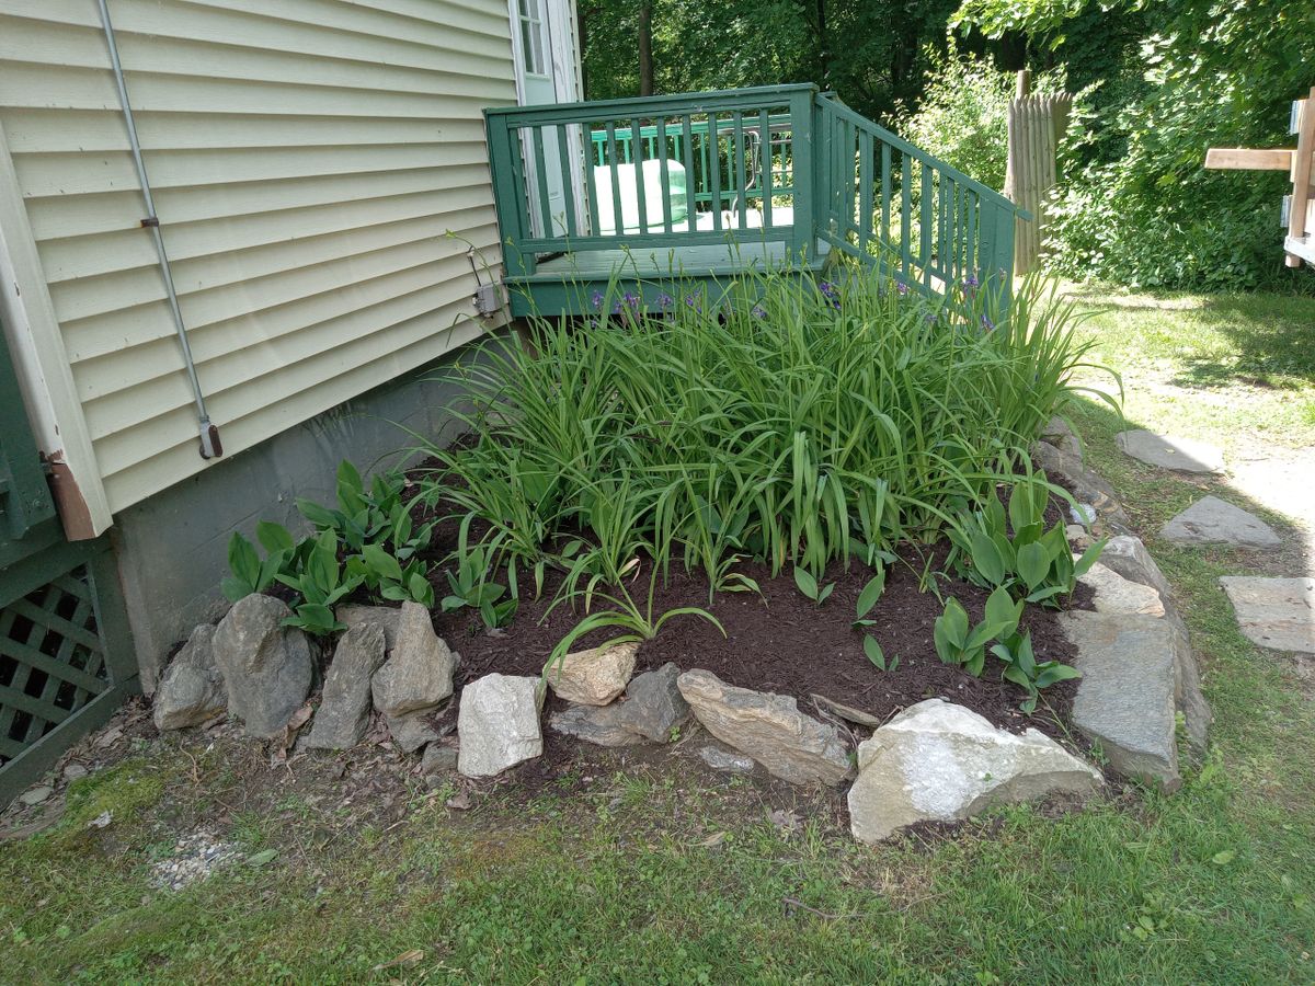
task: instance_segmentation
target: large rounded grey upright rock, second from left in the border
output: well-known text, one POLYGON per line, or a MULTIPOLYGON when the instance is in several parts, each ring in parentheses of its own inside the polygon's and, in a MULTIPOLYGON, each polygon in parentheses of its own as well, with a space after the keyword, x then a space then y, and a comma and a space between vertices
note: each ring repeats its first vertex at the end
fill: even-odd
POLYGON ((259 739, 279 734, 310 693, 310 643, 300 630, 283 626, 291 615, 279 599, 251 594, 235 602, 214 631, 229 714, 259 739))

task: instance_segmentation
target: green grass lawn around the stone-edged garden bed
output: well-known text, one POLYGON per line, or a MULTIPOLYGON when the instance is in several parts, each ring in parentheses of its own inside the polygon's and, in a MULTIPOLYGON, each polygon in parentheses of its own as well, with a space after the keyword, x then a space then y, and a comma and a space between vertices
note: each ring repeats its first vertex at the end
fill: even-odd
MULTIPOLYGON (((1315 444, 1315 300, 1082 304, 1132 426, 1231 458, 1315 444)), ((1013 809, 878 848, 821 797, 654 766, 468 811, 417 789, 398 823, 346 830, 284 798, 231 814, 221 835, 246 862, 172 893, 149 873, 179 806, 226 797, 235 768, 195 740, 143 744, 79 781, 58 828, 0 843, 0 982, 1315 979, 1310 684, 1239 634, 1215 582, 1273 561, 1156 543, 1199 484, 1118 454, 1107 408, 1073 418, 1202 657, 1214 749, 1178 794, 1013 809), (108 828, 87 827, 107 810, 108 828)))

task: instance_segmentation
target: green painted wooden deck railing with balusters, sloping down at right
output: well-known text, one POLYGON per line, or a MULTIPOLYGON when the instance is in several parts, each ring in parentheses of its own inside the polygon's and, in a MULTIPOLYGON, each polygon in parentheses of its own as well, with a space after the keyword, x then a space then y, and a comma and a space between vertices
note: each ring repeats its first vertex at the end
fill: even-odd
POLYGON ((923 291, 1013 275, 999 192, 817 87, 485 110, 509 280, 542 258, 819 242, 923 291), (764 134, 767 135, 764 139, 764 134))

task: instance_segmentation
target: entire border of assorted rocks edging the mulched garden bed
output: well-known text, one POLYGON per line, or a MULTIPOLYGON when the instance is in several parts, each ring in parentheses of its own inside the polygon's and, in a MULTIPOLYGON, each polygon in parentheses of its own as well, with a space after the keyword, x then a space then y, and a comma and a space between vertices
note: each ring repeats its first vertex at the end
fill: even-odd
MULTIPOLYGON (((1077 436, 1052 421, 1034 460, 1074 490, 1082 525, 1069 525, 1076 550, 1111 535, 1082 582, 1094 611, 1061 615, 1082 672, 1074 726, 1123 774, 1173 790, 1181 784, 1177 723, 1189 748, 1205 752, 1210 707, 1186 626, 1168 580, 1128 530, 1112 488, 1082 463, 1077 436)), ((285 748, 309 715, 312 644, 284 627, 287 607, 266 596, 234 605, 218 627, 199 627, 156 692, 160 728, 193 726, 225 706, 249 735, 285 748)), ((362 741, 371 714, 387 723, 402 752, 423 749, 421 772, 489 778, 543 752, 543 698, 551 688, 569 702, 550 718, 559 734, 601 747, 673 741, 690 718, 725 747, 698 757, 721 772, 761 765, 792 784, 839 786, 855 778, 842 720, 873 730, 857 743, 849 786, 851 826, 860 841, 886 839, 918 822, 968 818, 990 805, 1052 793, 1086 795, 1101 772, 1057 743, 1027 730, 997 730, 963 706, 934 698, 881 723, 832 698, 814 695, 823 722, 794 698, 730 685, 709 670, 675 664, 634 676, 636 644, 569 653, 544 677, 485 674, 466 685, 455 711, 455 743, 435 714, 452 711, 460 661, 434 631, 427 610, 343 606, 348 626, 323 682, 305 748, 345 749, 362 741)), ((849 727, 844 727, 848 730, 849 727)), ((852 736, 852 732, 848 734, 852 736)), ((857 740, 855 740, 857 741, 857 740)))

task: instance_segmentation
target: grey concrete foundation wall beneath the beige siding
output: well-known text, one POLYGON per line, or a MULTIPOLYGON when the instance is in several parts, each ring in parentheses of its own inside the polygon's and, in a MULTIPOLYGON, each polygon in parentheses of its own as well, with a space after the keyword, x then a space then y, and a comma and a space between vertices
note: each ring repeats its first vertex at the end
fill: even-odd
POLYGON ((460 433, 450 410, 463 393, 458 362, 476 358, 473 347, 462 350, 221 459, 116 517, 112 534, 147 693, 174 644, 227 610, 220 580, 227 575, 233 531, 254 540, 256 522, 267 519, 309 532, 296 500, 331 504, 343 459, 370 473, 416 458, 417 440, 402 429, 450 442, 460 433))

